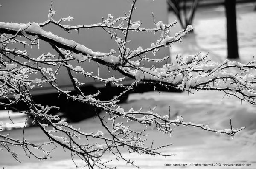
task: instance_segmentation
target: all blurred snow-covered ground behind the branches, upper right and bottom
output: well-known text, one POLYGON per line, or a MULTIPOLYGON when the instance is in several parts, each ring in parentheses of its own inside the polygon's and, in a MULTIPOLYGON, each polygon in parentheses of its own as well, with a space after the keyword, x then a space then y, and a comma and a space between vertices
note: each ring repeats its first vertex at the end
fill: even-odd
MULTIPOLYGON (((238 10, 238 37, 239 37, 239 54, 241 62, 252 59, 256 56, 256 12, 253 12, 253 6, 239 5, 238 10)), ((175 18, 170 14, 170 20, 175 18)), ((225 41, 225 17, 224 9, 217 8, 202 8, 198 9, 195 16, 194 34, 189 34, 183 39, 183 43, 173 45, 172 59, 176 52, 182 55, 195 54, 198 51, 206 54, 216 62, 221 62, 226 59, 226 41, 225 41)), ((179 30, 178 26, 174 31, 179 30)), ((172 142, 173 145, 164 149, 165 153, 177 153, 177 156, 162 158, 159 156, 145 156, 137 154, 124 155, 131 160, 135 160, 136 164, 142 169, 162 169, 162 168, 199 168, 199 169, 256 169, 256 107, 245 102, 241 103, 236 98, 224 98, 224 93, 214 91, 195 92, 194 95, 186 93, 157 93, 148 92, 144 94, 132 94, 128 98, 126 104, 122 104, 125 110, 131 107, 134 110, 143 107, 144 110, 149 110, 149 107, 157 105, 159 114, 167 114, 169 106, 173 116, 182 115, 184 121, 191 121, 199 124, 208 124, 211 128, 226 129, 229 128, 230 118, 233 121, 234 128, 246 126, 247 128, 240 132, 235 138, 230 138, 227 135, 219 135, 206 132, 193 127, 178 127, 175 132, 170 135, 164 135, 157 132, 156 129, 148 130, 150 134, 148 140, 154 139, 154 143, 161 145, 172 142), (252 166, 244 167, 174 167, 165 166, 164 164, 202 164, 202 163, 243 163, 251 164, 252 166)), ((99 121, 97 118, 87 119, 80 123, 73 124, 79 126, 85 131, 97 131, 99 121)), ((134 127, 141 129, 137 124, 134 127)), ((18 137, 22 129, 5 131, 2 133, 10 133, 12 137, 18 137)), ((26 138, 30 141, 40 142, 47 141, 40 129, 33 127, 26 129, 26 138)), ((17 150, 20 155, 20 160, 23 163, 16 163, 15 160, 6 151, 0 152, 0 168, 4 169, 74 169, 75 165, 70 159, 70 153, 64 152, 61 148, 56 148, 52 153, 52 159, 49 161, 38 161, 37 159, 28 159, 24 153, 17 147, 12 147, 17 150)), ((113 156, 105 155, 104 160, 113 159, 113 156)), ((78 161, 81 163, 81 161, 78 161)), ((113 161, 113 166, 118 166, 119 169, 133 168, 126 165, 124 161, 113 161)))

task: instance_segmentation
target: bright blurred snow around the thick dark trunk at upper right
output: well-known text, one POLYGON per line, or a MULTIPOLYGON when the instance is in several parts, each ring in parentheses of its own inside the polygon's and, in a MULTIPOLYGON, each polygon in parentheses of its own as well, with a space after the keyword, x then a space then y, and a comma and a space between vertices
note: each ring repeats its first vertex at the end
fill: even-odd
MULTIPOLYGON (((236 6, 237 31, 239 43, 239 62, 248 62, 256 56, 256 12, 254 3, 236 6)), ((169 14, 169 22, 176 20, 173 13, 169 14)), ((194 33, 186 35, 182 43, 172 45, 172 61, 178 54, 192 55, 197 52, 207 54, 215 62, 227 58, 226 17, 224 6, 198 8, 192 24, 194 33)), ((171 34, 179 31, 177 24, 170 29, 171 34)))

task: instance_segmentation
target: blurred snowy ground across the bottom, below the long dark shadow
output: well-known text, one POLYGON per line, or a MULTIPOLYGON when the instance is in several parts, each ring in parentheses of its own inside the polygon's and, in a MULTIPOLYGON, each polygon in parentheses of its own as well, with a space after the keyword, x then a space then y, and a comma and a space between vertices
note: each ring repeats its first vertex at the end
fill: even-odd
MULTIPOLYGON (((236 98, 224 98, 223 93, 213 91, 195 92, 194 95, 187 95, 186 93, 158 93, 148 92, 144 94, 132 94, 129 96, 128 103, 123 104, 125 110, 133 107, 134 110, 145 107, 154 107, 157 105, 157 112, 160 114, 167 114, 169 105, 171 106, 171 115, 182 115, 184 121, 192 121, 199 124, 208 124, 209 127, 224 129, 229 127, 229 119, 233 121, 233 127, 247 128, 236 135, 235 138, 230 138, 227 135, 220 135, 211 132, 206 132, 193 127, 177 127, 172 137, 159 133, 156 129, 148 130, 150 136, 148 140, 155 140, 156 144, 167 144, 172 142, 173 145, 164 149, 164 153, 177 153, 177 156, 162 158, 159 156, 142 156, 137 154, 124 155, 131 160, 135 160, 143 169, 161 169, 166 168, 165 163, 247 163, 252 166, 235 167, 244 169, 256 168, 256 113, 255 107, 236 98)), ((103 113, 104 114, 104 113, 103 113)), ((84 128, 85 131, 97 131, 99 129, 99 121, 97 118, 87 119, 78 124, 73 124, 84 128)), ((135 128, 141 127, 134 124, 135 128)), ((11 134, 14 137, 20 135, 20 130, 12 130, 11 134)), ((27 128, 26 138, 30 141, 46 141, 44 134, 40 129, 27 128), (36 136, 35 136, 36 135, 36 136)), ((16 147, 12 147, 17 149, 16 147)), ((55 149, 52 160, 38 161, 34 158, 28 159, 24 157, 23 152, 17 149, 23 163, 15 163, 14 159, 7 152, 1 152, 0 166, 5 169, 73 169, 75 166, 70 160, 68 152, 62 149, 55 149), (18 166, 17 166, 18 165, 18 166)), ((113 156, 104 156, 103 160, 113 159, 113 156)), ((78 163, 82 164, 81 161, 78 163)), ((114 161, 112 165, 119 166, 120 169, 132 168, 123 161, 114 161)), ((172 167, 175 168, 175 167, 172 167)), ((181 168, 181 167, 176 167, 181 168)), ((187 168, 204 168, 204 167, 187 167, 187 168)), ((207 167, 206 167, 207 168, 207 167)), ((214 167, 227 168, 232 167, 214 167)))

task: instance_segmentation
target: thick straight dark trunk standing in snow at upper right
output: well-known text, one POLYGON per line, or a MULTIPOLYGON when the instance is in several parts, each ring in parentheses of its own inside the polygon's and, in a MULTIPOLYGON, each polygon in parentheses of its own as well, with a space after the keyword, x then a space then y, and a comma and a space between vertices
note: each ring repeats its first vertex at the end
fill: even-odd
POLYGON ((237 59, 236 0, 225 0, 227 18, 227 58, 237 59))

